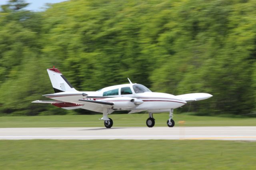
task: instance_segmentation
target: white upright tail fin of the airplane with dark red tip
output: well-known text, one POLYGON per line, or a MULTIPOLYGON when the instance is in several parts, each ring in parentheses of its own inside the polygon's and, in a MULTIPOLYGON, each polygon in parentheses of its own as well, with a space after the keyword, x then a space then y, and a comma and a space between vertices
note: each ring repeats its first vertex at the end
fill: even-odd
POLYGON ((76 89, 68 82, 64 75, 62 75, 62 73, 60 73, 60 71, 55 67, 47 69, 47 72, 55 93, 64 91, 76 91, 76 89))

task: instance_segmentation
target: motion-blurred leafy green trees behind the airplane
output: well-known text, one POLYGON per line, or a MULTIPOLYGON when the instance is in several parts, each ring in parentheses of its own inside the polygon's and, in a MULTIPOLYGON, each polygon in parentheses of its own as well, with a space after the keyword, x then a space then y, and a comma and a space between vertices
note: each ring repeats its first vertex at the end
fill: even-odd
POLYGON ((71 0, 45 12, 8 5, 0 12, 2 115, 72 112, 30 103, 53 93, 53 65, 81 91, 129 77, 153 91, 214 96, 183 111, 256 110, 254 0, 71 0))

